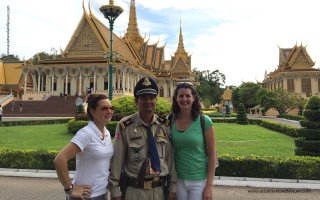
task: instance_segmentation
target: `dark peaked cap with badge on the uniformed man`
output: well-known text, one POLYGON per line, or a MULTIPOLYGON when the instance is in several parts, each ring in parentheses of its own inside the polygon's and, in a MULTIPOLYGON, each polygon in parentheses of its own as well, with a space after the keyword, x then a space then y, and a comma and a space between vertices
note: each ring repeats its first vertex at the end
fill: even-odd
POLYGON ((138 81, 134 88, 134 96, 137 97, 142 94, 158 95, 158 85, 153 78, 144 77, 138 81))

